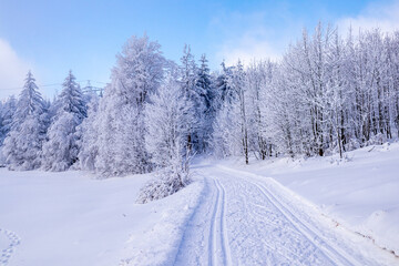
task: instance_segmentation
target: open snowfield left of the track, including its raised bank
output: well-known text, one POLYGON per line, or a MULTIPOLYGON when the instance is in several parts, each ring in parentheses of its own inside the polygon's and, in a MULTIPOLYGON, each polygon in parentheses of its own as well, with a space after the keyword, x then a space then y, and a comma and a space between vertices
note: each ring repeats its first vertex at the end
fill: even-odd
POLYGON ((150 265, 174 258, 202 183, 135 204, 150 177, 0 168, 0 265, 150 265))

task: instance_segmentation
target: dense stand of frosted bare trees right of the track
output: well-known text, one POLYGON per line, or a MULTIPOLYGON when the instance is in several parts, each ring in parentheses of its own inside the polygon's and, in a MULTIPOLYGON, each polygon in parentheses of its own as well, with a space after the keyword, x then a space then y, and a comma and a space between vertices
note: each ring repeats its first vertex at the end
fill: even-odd
POLYGON ((238 63, 224 73, 232 93, 216 115, 218 154, 342 156, 398 137, 399 32, 342 39, 319 24, 280 62, 253 62, 245 71, 238 63))

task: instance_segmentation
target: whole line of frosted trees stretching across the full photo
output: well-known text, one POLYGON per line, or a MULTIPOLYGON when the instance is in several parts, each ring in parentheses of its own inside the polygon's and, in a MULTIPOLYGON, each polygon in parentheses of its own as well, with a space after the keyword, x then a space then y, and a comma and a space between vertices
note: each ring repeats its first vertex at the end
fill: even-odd
POLYGON ((104 95, 83 94, 70 72, 53 102, 29 72, 18 100, 0 105, 0 144, 11 170, 70 167, 102 176, 166 168, 185 183, 198 153, 324 156, 397 139, 399 32, 319 24, 279 62, 239 61, 209 72, 190 47, 180 63, 132 37, 104 95))

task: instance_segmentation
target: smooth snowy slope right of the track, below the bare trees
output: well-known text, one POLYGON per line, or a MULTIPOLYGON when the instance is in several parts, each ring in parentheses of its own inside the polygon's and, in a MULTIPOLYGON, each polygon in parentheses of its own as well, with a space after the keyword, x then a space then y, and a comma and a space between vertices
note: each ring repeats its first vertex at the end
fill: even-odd
POLYGON ((273 177, 339 226, 399 255, 399 143, 308 160, 277 158, 219 165, 273 177))

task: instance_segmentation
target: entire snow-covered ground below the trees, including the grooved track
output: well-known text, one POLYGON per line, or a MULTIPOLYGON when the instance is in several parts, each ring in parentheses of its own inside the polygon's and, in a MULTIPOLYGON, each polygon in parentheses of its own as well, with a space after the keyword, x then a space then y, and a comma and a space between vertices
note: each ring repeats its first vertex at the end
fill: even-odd
POLYGON ((399 143, 347 155, 201 160, 145 205, 150 175, 1 168, 0 265, 399 265, 399 143))

